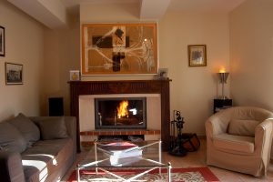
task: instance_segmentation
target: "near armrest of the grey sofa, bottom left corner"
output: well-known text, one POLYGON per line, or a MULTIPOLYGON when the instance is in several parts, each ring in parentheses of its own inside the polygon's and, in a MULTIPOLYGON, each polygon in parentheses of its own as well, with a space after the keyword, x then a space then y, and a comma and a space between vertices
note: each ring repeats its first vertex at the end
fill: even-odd
POLYGON ((0 179, 7 182, 24 182, 25 175, 19 153, 0 152, 0 179))

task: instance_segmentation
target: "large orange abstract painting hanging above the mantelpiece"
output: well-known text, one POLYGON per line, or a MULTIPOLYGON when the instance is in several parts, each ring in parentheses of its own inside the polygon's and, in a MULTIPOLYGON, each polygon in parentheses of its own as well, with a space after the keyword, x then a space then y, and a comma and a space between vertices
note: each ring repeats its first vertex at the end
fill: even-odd
POLYGON ((82 25, 81 73, 157 74, 157 24, 82 25))

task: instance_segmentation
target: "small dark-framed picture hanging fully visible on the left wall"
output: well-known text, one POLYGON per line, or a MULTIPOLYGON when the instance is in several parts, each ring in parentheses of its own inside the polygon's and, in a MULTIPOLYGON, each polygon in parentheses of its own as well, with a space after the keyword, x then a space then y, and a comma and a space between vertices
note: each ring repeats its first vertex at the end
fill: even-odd
POLYGON ((23 65, 5 63, 5 85, 23 84, 23 65))

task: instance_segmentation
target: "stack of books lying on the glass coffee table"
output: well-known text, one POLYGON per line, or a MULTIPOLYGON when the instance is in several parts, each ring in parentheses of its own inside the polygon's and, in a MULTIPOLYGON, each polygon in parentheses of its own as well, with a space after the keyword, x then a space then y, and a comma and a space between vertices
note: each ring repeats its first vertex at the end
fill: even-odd
POLYGON ((103 151, 104 154, 113 161, 118 158, 139 157, 142 155, 142 149, 130 142, 114 142, 106 145, 99 145, 97 149, 103 151))

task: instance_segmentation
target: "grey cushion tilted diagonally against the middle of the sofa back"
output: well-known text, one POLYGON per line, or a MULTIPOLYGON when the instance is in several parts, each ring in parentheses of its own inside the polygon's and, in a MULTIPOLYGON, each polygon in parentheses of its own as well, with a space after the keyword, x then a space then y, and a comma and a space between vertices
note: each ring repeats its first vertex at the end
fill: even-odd
POLYGON ((15 116, 13 119, 10 119, 8 122, 22 133, 28 147, 31 147, 31 145, 40 139, 40 130, 38 126, 22 113, 15 116))

